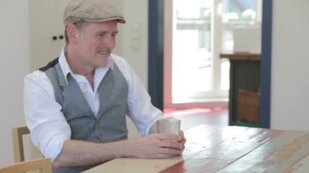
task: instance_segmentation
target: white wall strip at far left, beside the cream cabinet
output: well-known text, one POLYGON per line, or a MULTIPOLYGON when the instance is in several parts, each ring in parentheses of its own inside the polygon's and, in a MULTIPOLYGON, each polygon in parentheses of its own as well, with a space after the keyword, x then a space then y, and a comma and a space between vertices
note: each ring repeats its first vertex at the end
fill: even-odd
POLYGON ((11 129, 25 125, 23 77, 28 72, 28 2, 0 1, 0 166, 13 162, 11 129))

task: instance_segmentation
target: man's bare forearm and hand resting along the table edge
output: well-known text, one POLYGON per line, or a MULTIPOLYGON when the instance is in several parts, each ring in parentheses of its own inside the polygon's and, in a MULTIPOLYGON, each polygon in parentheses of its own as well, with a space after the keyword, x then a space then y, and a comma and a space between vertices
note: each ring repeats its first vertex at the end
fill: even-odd
POLYGON ((94 165, 118 157, 168 158, 176 154, 181 155, 184 143, 186 143, 186 138, 182 131, 180 131, 180 136, 150 134, 132 140, 110 143, 68 140, 52 164, 59 168, 94 165))

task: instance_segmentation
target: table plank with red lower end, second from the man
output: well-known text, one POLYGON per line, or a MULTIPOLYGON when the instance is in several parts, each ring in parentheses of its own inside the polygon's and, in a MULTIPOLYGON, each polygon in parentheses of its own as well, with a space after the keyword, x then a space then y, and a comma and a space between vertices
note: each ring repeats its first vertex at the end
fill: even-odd
POLYGON ((161 172, 217 172, 257 149, 284 131, 248 128, 234 137, 213 145, 161 172), (181 168, 182 167, 182 168, 181 168))

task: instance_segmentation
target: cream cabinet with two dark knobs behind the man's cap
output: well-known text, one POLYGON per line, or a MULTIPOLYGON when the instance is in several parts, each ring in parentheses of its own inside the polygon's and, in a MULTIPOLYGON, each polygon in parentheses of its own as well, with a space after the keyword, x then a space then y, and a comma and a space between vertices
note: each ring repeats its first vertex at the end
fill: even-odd
POLYGON ((65 45, 63 14, 70 0, 30 0, 29 72, 59 57, 65 45), (62 38, 60 38, 62 36, 62 38))

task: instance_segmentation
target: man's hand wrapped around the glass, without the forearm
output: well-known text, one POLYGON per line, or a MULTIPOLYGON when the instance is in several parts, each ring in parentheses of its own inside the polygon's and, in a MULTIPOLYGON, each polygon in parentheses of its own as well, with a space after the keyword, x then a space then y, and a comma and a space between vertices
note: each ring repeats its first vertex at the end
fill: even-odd
POLYGON ((186 138, 183 132, 175 134, 150 134, 145 137, 134 139, 132 155, 141 158, 168 158, 175 154, 181 154, 184 149, 186 138))

